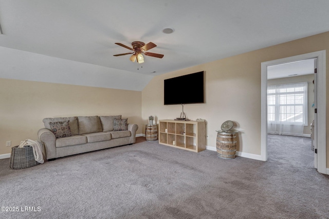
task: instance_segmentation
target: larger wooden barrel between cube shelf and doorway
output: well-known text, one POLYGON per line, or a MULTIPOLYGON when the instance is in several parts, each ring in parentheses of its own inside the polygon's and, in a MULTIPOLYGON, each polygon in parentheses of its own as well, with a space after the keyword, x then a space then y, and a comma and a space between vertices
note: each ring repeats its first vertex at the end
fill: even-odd
POLYGON ((235 158, 237 131, 217 131, 217 156, 224 159, 235 158))

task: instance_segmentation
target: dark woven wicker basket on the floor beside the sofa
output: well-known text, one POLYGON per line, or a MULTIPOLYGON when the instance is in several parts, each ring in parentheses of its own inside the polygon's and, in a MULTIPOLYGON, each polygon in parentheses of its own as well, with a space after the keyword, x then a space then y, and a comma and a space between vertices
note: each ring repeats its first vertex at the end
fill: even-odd
POLYGON ((33 167, 37 164, 34 160, 33 148, 32 146, 18 148, 15 146, 11 148, 9 167, 11 169, 24 169, 28 167, 33 167))

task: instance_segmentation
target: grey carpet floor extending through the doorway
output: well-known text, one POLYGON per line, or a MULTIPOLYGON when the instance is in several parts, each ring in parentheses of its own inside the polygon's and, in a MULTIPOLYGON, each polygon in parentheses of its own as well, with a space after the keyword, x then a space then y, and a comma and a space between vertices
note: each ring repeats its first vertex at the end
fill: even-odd
POLYGON ((267 162, 144 139, 21 170, 0 160, 0 218, 329 218, 310 138, 268 135, 267 162))

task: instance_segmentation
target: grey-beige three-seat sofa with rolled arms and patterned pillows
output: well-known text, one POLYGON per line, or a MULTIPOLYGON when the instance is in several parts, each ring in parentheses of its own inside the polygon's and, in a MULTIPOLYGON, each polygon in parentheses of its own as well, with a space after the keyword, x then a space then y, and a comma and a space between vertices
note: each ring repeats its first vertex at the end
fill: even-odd
POLYGON ((44 118, 38 131, 47 160, 134 144, 137 124, 128 124, 121 115, 44 118))

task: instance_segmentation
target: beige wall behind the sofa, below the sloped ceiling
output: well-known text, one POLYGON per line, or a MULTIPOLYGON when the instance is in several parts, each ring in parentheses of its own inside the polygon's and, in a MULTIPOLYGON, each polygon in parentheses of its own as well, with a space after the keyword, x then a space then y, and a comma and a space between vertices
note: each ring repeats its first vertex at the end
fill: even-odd
POLYGON ((141 92, 0 78, 0 155, 27 138, 37 140, 45 117, 119 115, 138 124, 141 92))

